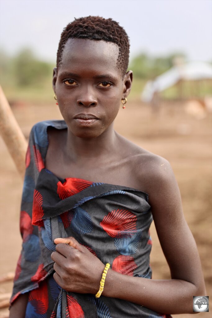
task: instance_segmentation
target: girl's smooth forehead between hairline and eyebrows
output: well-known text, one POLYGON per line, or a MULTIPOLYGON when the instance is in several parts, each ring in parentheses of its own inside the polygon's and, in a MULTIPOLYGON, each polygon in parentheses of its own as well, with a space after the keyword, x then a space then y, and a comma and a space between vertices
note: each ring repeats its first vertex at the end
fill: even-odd
POLYGON ((115 43, 70 38, 65 44, 60 69, 86 71, 111 71, 120 73, 117 67, 119 47, 115 43))

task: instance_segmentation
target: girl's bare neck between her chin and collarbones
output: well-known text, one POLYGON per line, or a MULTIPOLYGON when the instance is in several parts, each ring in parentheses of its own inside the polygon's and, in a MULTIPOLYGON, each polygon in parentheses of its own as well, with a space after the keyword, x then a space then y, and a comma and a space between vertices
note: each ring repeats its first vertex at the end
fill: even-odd
POLYGON ((113 124, 100 136, 95 138, 79 138, 68 129, 65 143, 66 157, 68 160, 83 162, 85 159, 101 159, 103 156, 115 151, 117 134, 113 124))

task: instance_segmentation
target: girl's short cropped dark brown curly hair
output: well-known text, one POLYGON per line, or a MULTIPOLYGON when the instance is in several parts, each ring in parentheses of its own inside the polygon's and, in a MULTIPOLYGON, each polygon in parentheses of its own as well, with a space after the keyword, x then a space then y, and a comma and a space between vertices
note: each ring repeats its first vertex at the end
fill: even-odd
POLYGON ((62 60, 63 49, 69 38, 103 40, 119 46, 117 66, 124 76, 129 63, 129 38, 118 22, 111 18, 81 17, 69 23, 63 30, 58 46, 57 67, 62 60))

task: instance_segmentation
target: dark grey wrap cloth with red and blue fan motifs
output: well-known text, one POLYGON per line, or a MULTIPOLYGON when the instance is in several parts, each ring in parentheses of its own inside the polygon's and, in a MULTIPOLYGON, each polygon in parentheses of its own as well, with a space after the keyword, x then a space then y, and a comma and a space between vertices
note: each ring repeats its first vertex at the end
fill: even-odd
POLYGON ((50 126, 67 129, 65 121, 43 121, 30 134, 20 214, 23 245, 11 303, 29 293, 25 318, 170 317, 121 299, 66 292, 55 282, 54 239, 69 236, 112 270, 150 279, 152 214, 144 192, 62 179, 45 169, 50 126))

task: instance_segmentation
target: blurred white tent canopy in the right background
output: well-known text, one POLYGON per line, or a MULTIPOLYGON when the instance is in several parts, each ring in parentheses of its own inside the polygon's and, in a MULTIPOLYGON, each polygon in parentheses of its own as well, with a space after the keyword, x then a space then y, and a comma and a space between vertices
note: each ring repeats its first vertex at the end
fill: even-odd
POLYGON ((167 72, 156 77, 154 81, 148 81, 141 93, 141 100, 150 102, 155 92, 162 92, 173 86, 179 80, 212 79, 212 66, 205 62, 190 62, 174 66, 167 72))

